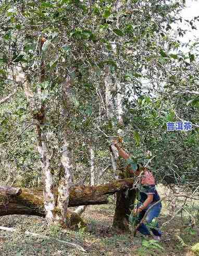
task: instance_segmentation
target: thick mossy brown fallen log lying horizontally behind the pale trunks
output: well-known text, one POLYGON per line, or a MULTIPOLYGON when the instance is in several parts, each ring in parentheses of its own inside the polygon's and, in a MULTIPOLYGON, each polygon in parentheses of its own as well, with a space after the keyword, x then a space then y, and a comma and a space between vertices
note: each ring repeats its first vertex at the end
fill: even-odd
MULTIPOLYGON (((114 194, 118 191, 125 191, 132 188, 132 185, 133 179, 129 178, 97 186, 72 187, 69 197, 69 207, 106 204, 108 203, 106 195, 114 194)), ((56 192, 55 189, 55 195, 57 195, 56 192)), ((0 216, 12 214, 45 216, 43 188, 16 189, 0 187, 0 216)))

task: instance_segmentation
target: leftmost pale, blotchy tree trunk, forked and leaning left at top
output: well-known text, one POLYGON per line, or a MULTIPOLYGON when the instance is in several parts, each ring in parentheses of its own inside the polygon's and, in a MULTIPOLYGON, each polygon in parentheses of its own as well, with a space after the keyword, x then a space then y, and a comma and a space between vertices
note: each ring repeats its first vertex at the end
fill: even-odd
MULTIPOLYGON (((44 41, 41 41, 41 49, 40 49, 40 55, 42 55, 42 45, 44 41)), ((35 133, 36 133, 36 140, 38 144, 38 152, 41 156, 41 166, 42 171, 45 176, 45 187, 44 187, 44 206, 46 210, 46 219, 49 224, 54 223, 54 207, 55 207, 55 200, 54 200, 54 182, 53 182, 53 174, 51 169, 51 157, 52 154, 49 153, 48 145, 47 145, 47 139, 46 139, 46 109, 44 104, 42 103, 42 100, 40 100, 40 106, 39 108, 36 106, 34 94, 31 90, 31 86, 29 83, 28 78, 26 77, 26 74, 22 71, 22 68, 17 67, 16 68, 16 81, 22 83, 24 94, 27 97, 28 102, 30 103, 30 111, 32 114, 32 118, 36 122, 35 126, 35 133)), ((45 79, 45 69, 44 69, 44 60, 43 57, 41 57, 41 64, 40 64, 40 77, 39 82, 43 83, 45 79)), ((39 88, 37 91, 37 96, 41 98, 41 89, 39 88)))

